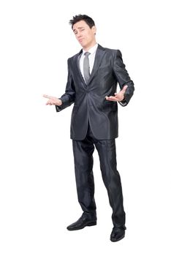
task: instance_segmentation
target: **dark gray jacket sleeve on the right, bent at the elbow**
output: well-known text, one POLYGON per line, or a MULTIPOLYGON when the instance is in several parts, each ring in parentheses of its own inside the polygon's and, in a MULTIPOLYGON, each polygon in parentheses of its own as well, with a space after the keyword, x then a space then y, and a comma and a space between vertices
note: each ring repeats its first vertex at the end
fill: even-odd
POLYGON ((115 77, 118 80, 120 88, 123 89, 123 86, 128 86, 124 95, 124 99, 119 102, 124 107, 129 103, 129 100, 134 94, 134 83, 129 77, 129 74, 125 68, 125 64, 123 64, 120 50, 116 50, 115 58, 113 61, 113 70, 115 72, 115 77))

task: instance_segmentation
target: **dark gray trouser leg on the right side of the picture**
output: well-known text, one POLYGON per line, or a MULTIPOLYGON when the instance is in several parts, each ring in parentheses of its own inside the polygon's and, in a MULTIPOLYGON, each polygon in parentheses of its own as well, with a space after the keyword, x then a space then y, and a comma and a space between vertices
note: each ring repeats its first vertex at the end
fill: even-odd
POLYGON ((102 178, 107 188, 110 206, 113 208, 113 225, 114 227, 124 227, 125 212, 123 210, 121 178, 116 167, 115 139, 96 140, 95 146, 99 154, 102 178))

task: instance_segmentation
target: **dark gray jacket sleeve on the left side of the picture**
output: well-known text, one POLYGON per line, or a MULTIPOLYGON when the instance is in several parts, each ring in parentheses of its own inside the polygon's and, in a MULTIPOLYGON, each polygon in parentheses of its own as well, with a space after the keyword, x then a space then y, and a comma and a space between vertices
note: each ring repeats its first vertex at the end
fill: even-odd
POLYGON ((61 99, 62 105, 61 106, 56 105, 57 112, 64 110, 64 108, 69 107, 70 105, 72 105, 72 103, 75 102, 75 85, 74 85, 70 68, 69 68, 69 59, 68 59, 68 79, 66 83, 66 89, 65 89, 65 93, 59 99, 61 99))

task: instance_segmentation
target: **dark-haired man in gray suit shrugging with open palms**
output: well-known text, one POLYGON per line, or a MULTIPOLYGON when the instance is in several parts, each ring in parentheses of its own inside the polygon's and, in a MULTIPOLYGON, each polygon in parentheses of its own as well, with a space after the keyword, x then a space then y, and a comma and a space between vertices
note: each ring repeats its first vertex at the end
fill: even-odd
POLYGON ((74 104, 71 139, 75 160, 77 197, 83 214, 68 230, 96 225, 94 200, 93 152, 99 154, 104 185, 113 209, 111 241, 125 236, 125 212, 121 178, 116 168, 115 138, 118 137, 118 103, 129 103, 134 83, 129 78, 120 50, 103 48, 96 43, 96 26, 87 15, 69 21, 82 50, 68 59, 68 80, 61 98, 50 97, 46 105, 59 112, 74 104), (116 93, 117 83, 121 91, 116 93))

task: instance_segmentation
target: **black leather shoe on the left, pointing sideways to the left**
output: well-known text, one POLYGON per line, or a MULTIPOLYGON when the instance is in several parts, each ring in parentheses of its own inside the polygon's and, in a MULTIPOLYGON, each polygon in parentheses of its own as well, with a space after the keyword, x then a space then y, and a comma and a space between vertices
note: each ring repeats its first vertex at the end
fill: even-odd
POLYGON ((69 225, 67 230, 81 230, 82 228, 86 226, 94 226, 96 225, 96 217, 92 217, 88 214, 83 213, 80 219, 77 220, 77 222, 72 223, 69 225))

